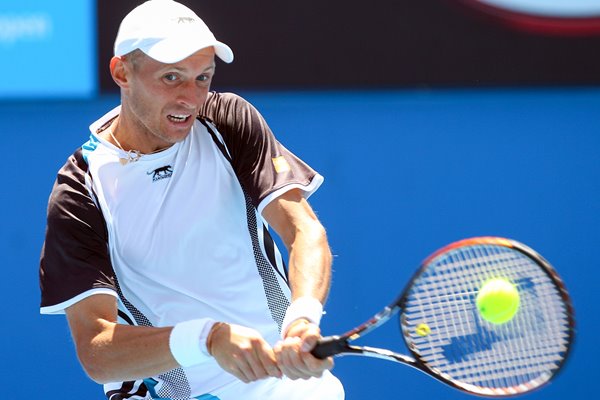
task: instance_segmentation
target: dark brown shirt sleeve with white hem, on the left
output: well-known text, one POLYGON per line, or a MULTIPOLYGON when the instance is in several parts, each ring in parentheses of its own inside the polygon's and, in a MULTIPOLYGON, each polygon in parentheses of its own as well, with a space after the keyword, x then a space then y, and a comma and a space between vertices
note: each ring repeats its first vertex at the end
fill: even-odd
POLYGON ((86 185, 81 150, 59 171, 40 257, 41 313, 60 314, 88 295, 116 296, 102 212, 86 185))

